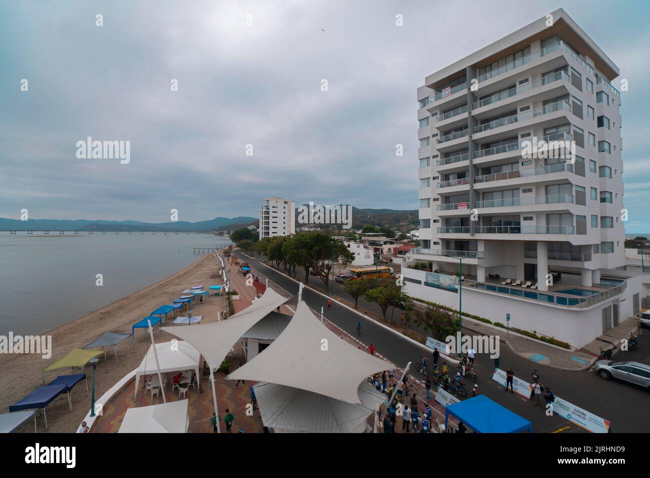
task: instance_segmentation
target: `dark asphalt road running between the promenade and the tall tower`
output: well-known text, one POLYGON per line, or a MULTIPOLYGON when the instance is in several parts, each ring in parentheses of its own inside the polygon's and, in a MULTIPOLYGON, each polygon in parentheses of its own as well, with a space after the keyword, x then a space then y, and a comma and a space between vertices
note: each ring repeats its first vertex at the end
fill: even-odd
MULTIPOLYGON (((257 258, 250 258, 247 262, 266 275, 269 280, 287 290, 287 292, 291 294, 298 293, 298 284, 289 277, 266 267, 257 258)), ((318 286, 322 285, 322 281, 316 277, 310 277, 309 279, 318 286)), ((347 297, 340 284, 335 284, 335 294, 347 297)), ((331 311, 328 312, 327 299, 309 288, 304 289, 303 299, 309 307, 315 310, 324 307, 325 316, 328 320, 346 332, 356 334, 356 323, 359 316, 348 308, 333 302, 331 311)), ((362 300, 359 299, 361 307, 373 312, 376 311, 381 315, 376 304, 365 303, 365 301, 362 304, 362 300)), ((422 355, 420 347, 406 340, 400 340, 395 334, 376 325, 373 321, 362 320, 361 323, 360 340, 365 344, 374 344, 376 350, 387 359, 402 368, 409 361, 413 362, 413 366, 419 362, 422 355)), ((614 359, 650 363, 650 331, 642 334, 639 337, 639 342, 636 351, 619 352, 614 359)), ((560 396, 574 405, 578 405, 605 420, 611 421, 612 429, 616 433, 645 432, 650 429, 650 414, 647 413, 647 407, 650 405, 650 392, 638 386, 619 381, 605 381, 593 371, 564 371, 536 364, 512 353, 510 348, 502 344, 499 367, 505 370, 508 366, 512 367, 515 375, 520 378, 530 377, 532 370, 537 369, 539 375, 541 375, 540 382, 549 386, 556 396, 560 396)), ((503 388, 491 379, 493 360, 489 359, 487 355, 477 355, 475 370, 476 375, 478 375, 479 392, 530 420, 536 433, 584 432, 580 427, 560 416, 546 416, 543 410, 534 406, 532 400, 528 401, 517 395, 510 394, 510 392, 504 392, 503 388)), ((415 370, 412 370, 412 373, 416 377, 419 375, 415 370)), ((471 383, 467 380, 465 382, 467 384, 471 383)))

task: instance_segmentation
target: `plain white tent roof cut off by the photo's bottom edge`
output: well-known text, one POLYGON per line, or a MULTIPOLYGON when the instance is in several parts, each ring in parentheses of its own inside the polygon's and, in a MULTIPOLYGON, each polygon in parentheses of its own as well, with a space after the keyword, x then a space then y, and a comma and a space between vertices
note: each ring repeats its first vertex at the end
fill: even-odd
POLYGON ((187 433, 189 400, 126 410, 118 433, 187 433))

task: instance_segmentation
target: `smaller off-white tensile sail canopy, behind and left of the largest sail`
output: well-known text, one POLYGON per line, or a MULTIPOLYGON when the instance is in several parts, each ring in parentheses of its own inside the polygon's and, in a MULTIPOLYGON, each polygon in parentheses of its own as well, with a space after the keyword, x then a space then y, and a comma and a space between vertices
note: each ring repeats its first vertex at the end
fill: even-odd
POLYGON ((162 327, 162 330, 192 344, 214 369, 221 366, 230 349, 248 329, 288 300, 267 287, 264 295, 255 303, 228 320, 191 327, 162 327))

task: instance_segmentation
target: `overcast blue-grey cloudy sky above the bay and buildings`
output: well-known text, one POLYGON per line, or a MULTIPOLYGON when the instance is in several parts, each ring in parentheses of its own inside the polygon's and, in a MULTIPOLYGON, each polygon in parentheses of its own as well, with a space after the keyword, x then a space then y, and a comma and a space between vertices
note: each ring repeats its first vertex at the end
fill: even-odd
POLYGON ((256 217, 270 195, 415 209, 424 77, 562 6, 629 80, 627 232, 650 233, 647 2, 525 4, 0 0, 0 216, 256 217), (130 141, 131 162, 78 159, 87 136, 130 141))

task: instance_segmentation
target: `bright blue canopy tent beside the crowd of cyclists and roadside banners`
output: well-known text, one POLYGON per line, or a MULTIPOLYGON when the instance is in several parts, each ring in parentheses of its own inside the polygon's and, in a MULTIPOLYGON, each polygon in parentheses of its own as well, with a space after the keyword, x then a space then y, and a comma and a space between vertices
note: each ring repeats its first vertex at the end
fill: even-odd
POLYGON ((475 433, 532 433, 532 424, 525 418, 479 395, 445 407, 445 429, 449 416, 457 418, 475 433))

